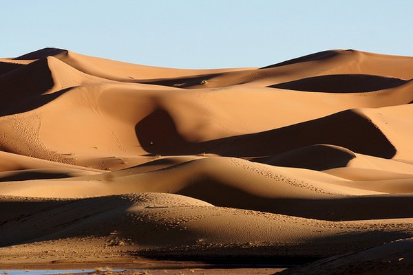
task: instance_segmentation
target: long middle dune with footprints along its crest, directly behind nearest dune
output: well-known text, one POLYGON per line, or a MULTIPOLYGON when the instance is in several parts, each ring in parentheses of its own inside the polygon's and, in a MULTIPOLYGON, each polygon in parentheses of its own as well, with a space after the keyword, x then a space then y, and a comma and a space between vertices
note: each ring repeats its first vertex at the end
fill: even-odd
MULTIPOLYGON (((215 206, 244 208, 328 220, 410 217, 411 176, 404 194, 372 190, 311 170, 253 164, 235 158, 202 158, 152 172, 134 168, 103 175, 48 181, 13 181, 1 193, 34 197, 94 197, 136 192, 172 192, 215 206), (85 184, 87 182, 87 184, 85 184), (374 205, 374 208, 370 208, 374 205), (365 206, 365 207, 361 207, 365 206)), ((395 185, 393 188, 398 188, 395 185)))

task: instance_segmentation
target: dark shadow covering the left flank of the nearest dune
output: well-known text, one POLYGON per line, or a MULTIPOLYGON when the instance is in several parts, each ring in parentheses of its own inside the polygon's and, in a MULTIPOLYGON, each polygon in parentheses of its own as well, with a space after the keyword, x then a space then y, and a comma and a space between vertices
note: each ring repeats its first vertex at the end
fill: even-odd
POLYGON ((111 212, 114 217, 122 218, 117 213, 126 212, 131 205, 131 201, 120 196, 41 201, 2 199, 0 248, 61 237, 107 236, 116 228, 102 227, 94 219, 111 212))

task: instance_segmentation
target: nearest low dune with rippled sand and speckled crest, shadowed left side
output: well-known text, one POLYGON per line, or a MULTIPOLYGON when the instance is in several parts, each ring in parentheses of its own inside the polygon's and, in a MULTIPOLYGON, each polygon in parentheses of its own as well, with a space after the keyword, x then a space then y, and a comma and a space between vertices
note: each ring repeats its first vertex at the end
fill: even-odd
MULTIPOLYGON (((231 252, 231 245, 235 243, 261 250, 260 253, 265 253, 263 248, 269 247, 271 250, 273 245, 277 245, 284 250, 283 254, 286 253, 277 256, 308 256, 300 255, 308 245, 308 250, 311 248, 312 251, 310 256, 324 256, 331 253, 330 245, 339 247, 335 250, 346 251, 363 248, 366 244, 381 244, 383 241, 412 236, 412 232, 409 232, 411 219, 401 219, 397 223, 332 223, 219 208, 189 197, 162 193, 62 201, 34 199, 23 202, 10 197, 1 200, 2 208, 14 208, 18 202, 20 212, 12 211, 7 217, 3 217, 8 223, 3 225, 2 246, 66 237, 81 238, 90 234, 110 237, 112 232, 112 236, 119 241, 136 242, 129 243, 129 247, 139 245, 140 248, 146 248, 146 252, 152 256, 156 251, 163 253, 162 249, 176 254, 178 251, 171 248, 179 249, 180 246, 187 249, 187 252, 181 250, 183 254, 202 253, 202 250, 205 250, 206 255, 219 254, 218 250, 225 248, 229 248, 228 252, 231 252), (39 211, 42 212, 43 219, 33 214, 39 211), (21 212, 25 212, 23 219, 21 212), (64 216, 60 214, 62 212, 65 213, 64 216), (257 224, 260 227, 256 227, 257 224), (17 236, 14 228, 18 226, 27 230, 22 230, 17 236), (239 233, 234 233, 237 231, 239 233), (341 235, 341 239, 334 238, 337 234, 341 235), (320 240, 324 240, 323 245, 319 245, 320 240), (211 245, 215 248, 211 249, 211 245)), ((234 248, 232 252, 245 253, 237 252, 234 248)))

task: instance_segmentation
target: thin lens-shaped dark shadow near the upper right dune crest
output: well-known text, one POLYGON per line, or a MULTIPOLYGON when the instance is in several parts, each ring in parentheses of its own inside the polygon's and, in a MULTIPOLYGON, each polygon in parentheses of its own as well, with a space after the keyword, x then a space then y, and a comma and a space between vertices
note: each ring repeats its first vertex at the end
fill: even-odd
POLYGON ((301 78, 268 87, 296 91, 319 91, 325 93, 365 93, 398 87, 407 83, 400 78, 371 76, 367 74, 332 74, 301 78))

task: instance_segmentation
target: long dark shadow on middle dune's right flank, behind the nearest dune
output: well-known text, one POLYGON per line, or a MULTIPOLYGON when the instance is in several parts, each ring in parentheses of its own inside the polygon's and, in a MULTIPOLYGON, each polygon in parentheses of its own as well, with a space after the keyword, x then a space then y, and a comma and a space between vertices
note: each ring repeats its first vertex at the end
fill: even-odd
POLYGON ((285 214, 326 221, 363 219, 396 219, 413 217, 409 195, 332 197, 331 199, 279 199, 254 195, 223 184, 220 179, 197 175, 193 184, 182 188, 179 195, 207 201, 214 206, 240 208, 285 214), (231 194, 229 196, 228 194, 231 194))

